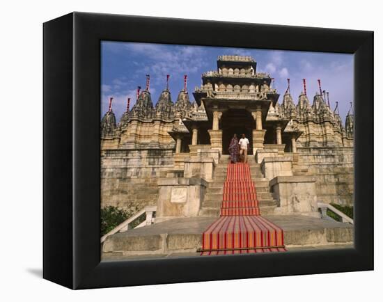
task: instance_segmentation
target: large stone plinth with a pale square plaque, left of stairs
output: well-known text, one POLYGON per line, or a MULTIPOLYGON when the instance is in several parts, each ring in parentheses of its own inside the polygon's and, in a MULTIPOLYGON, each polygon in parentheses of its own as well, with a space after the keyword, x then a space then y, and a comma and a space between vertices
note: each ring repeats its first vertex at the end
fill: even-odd
POLYGON ((157 183, 159 198, 156 221, 198 216, 208 182, 197 177, 178 177, 160 179, 157 183))

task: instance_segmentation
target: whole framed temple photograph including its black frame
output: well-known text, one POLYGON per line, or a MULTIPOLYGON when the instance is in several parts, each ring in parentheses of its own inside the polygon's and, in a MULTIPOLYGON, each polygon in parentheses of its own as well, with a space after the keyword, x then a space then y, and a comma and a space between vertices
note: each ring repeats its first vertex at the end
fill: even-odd
POLYGON ((44 278, 373 269, 373 32, 44 24, 44 278))

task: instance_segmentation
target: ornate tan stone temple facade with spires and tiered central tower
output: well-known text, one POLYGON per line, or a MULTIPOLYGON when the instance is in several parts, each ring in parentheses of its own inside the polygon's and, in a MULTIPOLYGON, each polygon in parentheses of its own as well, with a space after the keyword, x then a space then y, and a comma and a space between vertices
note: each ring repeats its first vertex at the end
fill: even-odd
POLYGON ((249 138, 253 169, 275 201, 272 213, 310 212, 292 205, 299 198, 352 204, 352 108, 343 124, 325 91, 313 102, 305 91, 294 100, 290 84, 279 100, 272 77, 256 72, 249 56, 219 56, 193 95, 191 102, 185 79, 175 102, 166 87, 153 105, 147 86, 120 121, 111 108, 104 115, 102 206, 157 205, 164 218, 207 213, 203 200, 217 166, 228 161, 233 134, 249 138), (294 191, 295 201, 283 197, 288 185, 303 190, 294 191))

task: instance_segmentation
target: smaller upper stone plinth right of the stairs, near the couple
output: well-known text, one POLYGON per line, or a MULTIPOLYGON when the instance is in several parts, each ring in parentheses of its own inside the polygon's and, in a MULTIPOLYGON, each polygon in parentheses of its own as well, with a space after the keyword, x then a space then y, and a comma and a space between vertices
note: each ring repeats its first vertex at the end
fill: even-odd
POLYGON ((292 176, 292 157, 265 157, 260 168, 269 180, 276 176, 292 176))

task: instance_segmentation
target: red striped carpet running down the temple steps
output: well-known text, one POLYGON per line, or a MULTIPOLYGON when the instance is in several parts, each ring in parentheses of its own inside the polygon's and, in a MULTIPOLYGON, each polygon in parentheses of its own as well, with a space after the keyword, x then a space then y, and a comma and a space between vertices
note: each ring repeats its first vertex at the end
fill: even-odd
POLYGON ((203 232, 201 255, 286 251, 283 230, 260 216, 249 164, 228 164, 220 216, 203 232))

